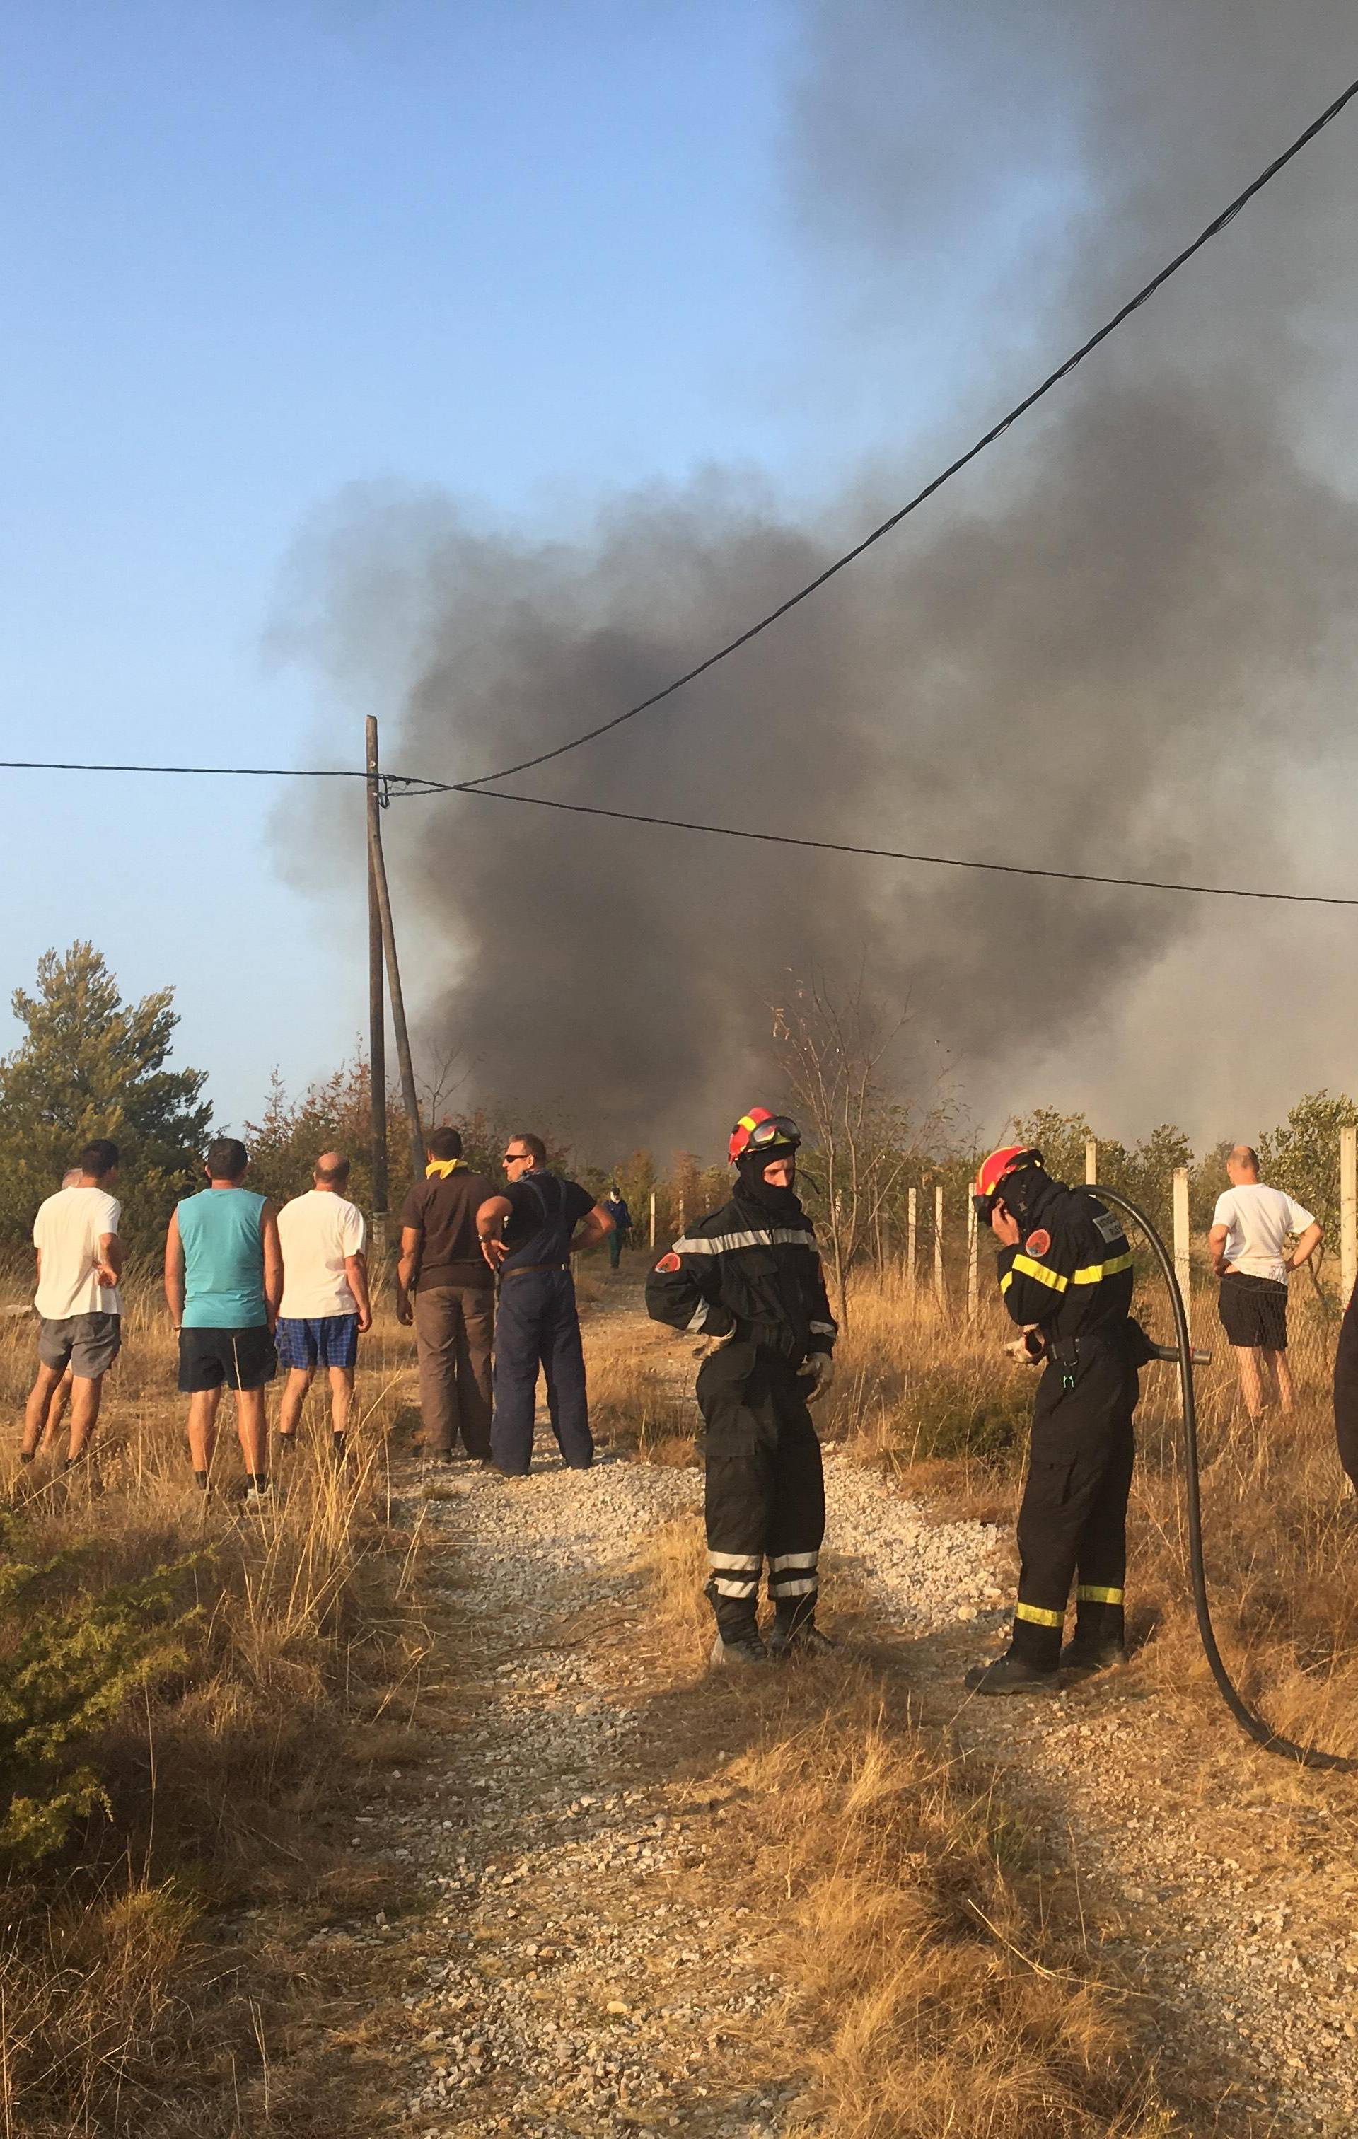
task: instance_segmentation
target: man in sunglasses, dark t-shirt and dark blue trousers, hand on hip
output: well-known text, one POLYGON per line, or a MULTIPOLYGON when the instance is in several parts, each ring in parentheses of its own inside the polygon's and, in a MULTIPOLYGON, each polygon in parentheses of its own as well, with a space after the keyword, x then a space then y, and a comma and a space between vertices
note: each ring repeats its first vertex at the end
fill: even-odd
POLYGON ((541 1365, 562 1461, 588 1469, 595 1442, 571 1256, 605 1241, 614 1221, 577 1181, 547 1170, 541 1136, 511 1136, 505 1172, 505 1194, 477 1211, 481 1253, 500 1279, 490 1459, 507 1478, 528 1476, 541 1365))

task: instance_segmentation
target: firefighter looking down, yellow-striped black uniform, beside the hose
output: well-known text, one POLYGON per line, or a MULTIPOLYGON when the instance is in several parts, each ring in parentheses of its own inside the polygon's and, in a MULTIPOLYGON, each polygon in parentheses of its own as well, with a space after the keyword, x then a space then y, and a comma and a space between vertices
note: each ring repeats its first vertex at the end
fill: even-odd
POLYGON ((1151 1356, 1131 1320, 1131 1249, 1093 1196, 1052 1181, 1039 1151, 992 1151, 973 1183, 997 1234, 999 1290, 1046 1371, 1033 1403, 1018 1510, 1018 1604, 1009 1649, 967 1673, 977 1694, 1056 1688, 1127 1656, 1127 1493, 1138 1367, 1151 1356), (1076 1634, 1061 1647, 1076 1581, 1076 1634))

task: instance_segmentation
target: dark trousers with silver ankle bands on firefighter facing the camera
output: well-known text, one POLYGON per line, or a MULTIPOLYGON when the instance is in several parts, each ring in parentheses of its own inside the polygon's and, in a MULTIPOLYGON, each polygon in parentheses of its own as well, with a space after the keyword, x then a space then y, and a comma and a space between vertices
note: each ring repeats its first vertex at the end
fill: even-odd
POLYGON ((723 1641, 757 1630, 759 1572, 785 1626, 815 1615, 825 1536, 821 1444, 789 1360, 727 1343, 697 1373, 708 1425, 708 1600, 723 1641))

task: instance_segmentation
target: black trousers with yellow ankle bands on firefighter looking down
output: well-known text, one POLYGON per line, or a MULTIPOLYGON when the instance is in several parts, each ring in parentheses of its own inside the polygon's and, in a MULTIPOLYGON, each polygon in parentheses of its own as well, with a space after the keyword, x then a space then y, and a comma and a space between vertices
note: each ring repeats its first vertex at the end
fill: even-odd
POLYGON ((1018 1510, 1014 1649, 1037 1671, 1056 1668, 1071 1581, 1076 1638, 1123 1638, 1136 1367, 1121 1341, 1084 1339, 1071 1373, 1065 1388, 1052 1363, 1037 1386, 1018 1510))

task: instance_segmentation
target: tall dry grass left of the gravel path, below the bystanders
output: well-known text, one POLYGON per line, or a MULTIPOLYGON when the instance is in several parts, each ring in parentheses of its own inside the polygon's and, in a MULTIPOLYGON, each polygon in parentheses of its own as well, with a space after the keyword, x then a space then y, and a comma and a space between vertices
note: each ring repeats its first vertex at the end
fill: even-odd
MULTIPOLYGON (((169 1568, 182 1658, 73 1743, 103 1807, 62 1850, 4 1878, 0 2130, 214 2139, 284 2103, 291 2133, 344 2118, 355 2128, 353 2066, 299 2058, 287 2083, 278 2071, 306 2000, 297 1964, 269 1955, 265 1932, 287 1921, 299 1944, 308 1910, 364 1897, 327 1816, 355 1763, 398 1750, 393 1705, 423 1647, 408 1561, 383 1529, 408 1345, 393 1326, 370 1339, 349 1469, 329 1465, 319 1420, 280 1506, 257 1517, 240 1497, 231 1399, 214 1491, 192 1487, 173 1339, 152 1292, 135 1292, 124 1343, 94 1474, 62 1476, 49 1455, 19 1472, 11 1442, 9 1546, 53 1566, 53 1624, 79 1626, 118 1585, 169 1568), (229 1927, 222 1908, 248 1914, 229 1927)), ((6 1320, 11 1418, 32 1367, 32 1322, 6 1320)), ((13 1638, 11 1626, 0 1653, 13 1638)))

